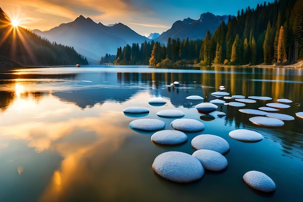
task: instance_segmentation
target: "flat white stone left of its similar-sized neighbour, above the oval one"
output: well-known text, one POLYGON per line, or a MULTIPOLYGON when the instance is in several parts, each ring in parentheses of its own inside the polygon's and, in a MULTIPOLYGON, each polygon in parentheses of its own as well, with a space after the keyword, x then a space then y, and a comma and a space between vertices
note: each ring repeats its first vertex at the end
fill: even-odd
POLYGON ((136 130, 156 131, 164 129, 166 124, 158 119, 137 119, 132 121, 129 126, 136 130))

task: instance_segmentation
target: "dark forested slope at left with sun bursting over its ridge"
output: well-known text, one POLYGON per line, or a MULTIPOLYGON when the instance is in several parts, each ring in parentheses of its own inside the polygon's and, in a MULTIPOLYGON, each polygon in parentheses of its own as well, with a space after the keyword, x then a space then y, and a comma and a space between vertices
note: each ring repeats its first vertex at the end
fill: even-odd
POLYGON ((0 8, 1 66, 21 65, 75 65, 87 60, 75 49, 51 44, 22 27, 13 27, 10 18, 0 8))

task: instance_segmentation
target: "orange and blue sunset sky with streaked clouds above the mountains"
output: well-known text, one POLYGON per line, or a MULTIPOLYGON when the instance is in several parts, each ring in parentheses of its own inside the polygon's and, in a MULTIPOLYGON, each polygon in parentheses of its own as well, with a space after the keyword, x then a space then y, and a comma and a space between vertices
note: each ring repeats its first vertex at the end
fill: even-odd
MULTIPOLYGON (((272 2, 272 1, 270 1, 272 2)), ((49 30, 78 16, 104 25, 123 23, 141 35, 167 31, 177 20, 202 13, 237 15, 264 0, 1 0, 0 7, 30 30, 49 30)))

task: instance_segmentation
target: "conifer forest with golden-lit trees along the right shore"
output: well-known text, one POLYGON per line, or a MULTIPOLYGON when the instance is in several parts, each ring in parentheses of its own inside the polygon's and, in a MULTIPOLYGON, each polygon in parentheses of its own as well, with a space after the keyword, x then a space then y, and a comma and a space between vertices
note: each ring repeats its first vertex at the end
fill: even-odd
MULTIPOLYGON (((202 35, 202 34, 201 34, 202 35)), ((117 49, 114 64, 292 64, 303 60, 303 1, 275 0, 238 11, 204 39, 168 38, 117 49)))

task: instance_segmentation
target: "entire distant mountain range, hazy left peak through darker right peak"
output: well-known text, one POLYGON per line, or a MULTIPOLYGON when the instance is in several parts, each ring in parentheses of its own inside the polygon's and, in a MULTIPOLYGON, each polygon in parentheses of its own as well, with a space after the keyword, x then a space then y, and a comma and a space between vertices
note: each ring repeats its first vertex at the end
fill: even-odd
POLYGON ((77 52, 86 56, 90 63, 95 63, 106 53, 115 55, 117 48, 127 44, 141 45, 145 40, 166 44, 169 37, 173 39, 179 37, 181 40, 187 37, 190 40, 203 39, 208 30, 213 33, 222 21, 227 23, 228 17, 234 16, 215 16, 212 13, 204 13, 197 20, 191 18, 178 20, 161 35, 151 33, 148 37, 139 35, 121 23, 105 26, 84 16, 79 16, 75 21, 61 24, 49 31, 33 30, 33 32, 50 42, 74 47, 77 52))

